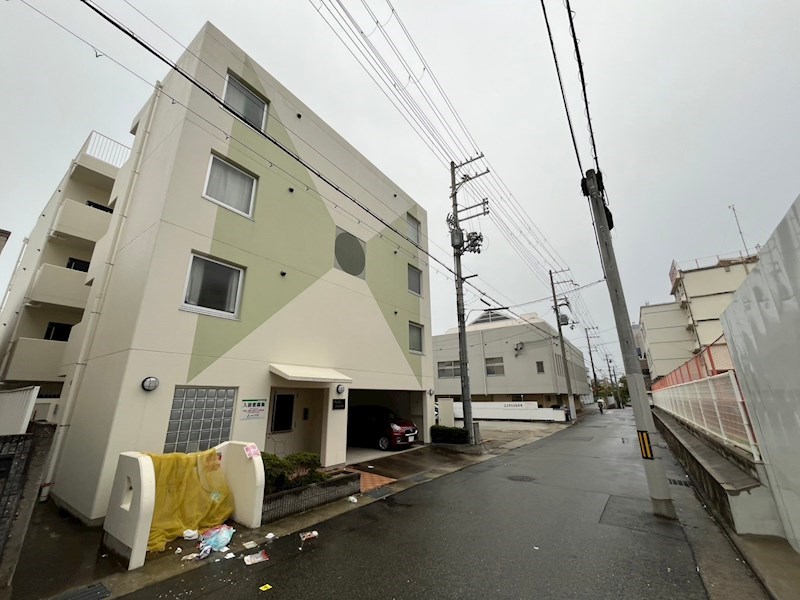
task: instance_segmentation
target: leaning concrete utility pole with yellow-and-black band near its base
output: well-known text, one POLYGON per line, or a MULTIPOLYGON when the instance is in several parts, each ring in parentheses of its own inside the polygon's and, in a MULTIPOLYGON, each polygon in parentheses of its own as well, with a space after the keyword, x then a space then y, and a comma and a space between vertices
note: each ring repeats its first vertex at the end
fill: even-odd
POLYGON ((661 448, 658 444, 653 447, 651 439, 658 439, 653 414, 647 402, 647 392, 644 387, 644 378, 636 355, 636 345, 633 341, 628 305, 625 302, 625 293, 622 290, 622 279, 617 267, 617 258, 614 254, 614 245, 611 241, 611 227, 613 220, 611 211, 603 198, 603 176, 595 173, 594 169, 586 171, 586 177, 581 181, 583 194, 589 198, 592 208, 592 217, 600 246, 600 259, 606 274, 608 294, 611 297, 611 306, 614 309, 614 320, 617 324, 622 362, 625 374, 628 377, 628 389, 631 394, 633 416, 636 421, 636 430, 639 438, 639 449, 644 463, 644 472, 647 477, 647 488, 650 492, 650 502, 653 513, 660 517, 676 519, 675 506, 669 493, 667 474, 664 463, 661 462, 661 448), (658 452, 658 455, 654 453, 658 452))

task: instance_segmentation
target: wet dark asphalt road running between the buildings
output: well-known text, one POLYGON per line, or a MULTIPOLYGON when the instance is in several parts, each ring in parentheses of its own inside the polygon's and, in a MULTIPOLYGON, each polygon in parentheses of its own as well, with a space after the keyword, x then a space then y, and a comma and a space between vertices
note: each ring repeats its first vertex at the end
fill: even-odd
POLYGON ((681 526, 649 511, 632 412, 609 411, 320 523, 303 551, 126 598, 706 598, 681 526))

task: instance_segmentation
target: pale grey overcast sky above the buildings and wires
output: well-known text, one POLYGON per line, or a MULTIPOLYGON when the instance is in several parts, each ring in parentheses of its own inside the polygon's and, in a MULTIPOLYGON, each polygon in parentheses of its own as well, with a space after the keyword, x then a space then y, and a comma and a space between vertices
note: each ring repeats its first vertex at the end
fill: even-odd
MULTIPOLYGON (((30 0, 150 82, 165 67, 77 0, 30 0)), ((314 4, 319 5, 320 0, 314 4)), ((182 48, 122 0, 98 0, 172 58, 182 48)), ((369 0, 392 36, 384 0, 369 0)), ((602 271, 589 207, 564 117, 538 1, 394 0, 400 15, 480 150, 549 242, 587 284, 602 271)), ((305 0, 159 2, 135 5, 184 44, 213 22, 428 211, 432 242, 448 248, 449 172, 368 78, 305 0)), ((346 0, 355 13, 360 2, 346 0)), ((547 0, 585 168, 590 152, 575 85, 566 13, 547 0)), ((800 193, 800 2, 573 0, 600 166, 614 212, 615 245, 630 315, 669 298, 673 259, 764 243, 800 193)), ((361 14, 361 13, 358 13, 361 14)), ((372 38, 379 37, 373 32, 372 38)), ((30 232, 87 134, 130 145, 128 129, 152 91, 19 0, 0 4, 0 256, 6 283, 30 232)), ((403 46, 404 51, 410 49, 403 46)), ((414 65, 412 65, 413 67, 414 65)), ((421 65, 417 63, 419 72, 421 65)), ((424 79, 425 76, 423 76, 424 79)), ((454 157, 457 161, 464 157, 454 157)), ((490 202, 493 199, 490 198, 490 202)), ((472 221, 485 250, 465 264, 501 302, 545 297, 487 219, 472 221)), ((434 253, 450 264, 447 254, 434 253)), ((431 273, 433 332, 455 325, 452 281, 431 273)), ((584 292, 601 349, 621 366, 608 294, 584 292)), ((468 294, 469 308, 480 308, 468 294)), ((520 311, 553 322, 547 302, 520 311)), ((472 313, 472 317, 476 313, 472 313)), ((580 327, 570 337, 586 346, 580 327)))

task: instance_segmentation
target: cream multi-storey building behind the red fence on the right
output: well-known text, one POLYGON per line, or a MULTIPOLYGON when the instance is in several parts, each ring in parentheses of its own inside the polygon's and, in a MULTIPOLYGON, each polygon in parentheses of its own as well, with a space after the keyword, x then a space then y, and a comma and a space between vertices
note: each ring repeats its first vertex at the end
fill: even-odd
POLYGON ((758 262, 758 255, 744 258, 716 257, 672 263, 669 272, 673 302, 647 304, 639 309, 639 324, 650 376, 664 377, 707 346, 724 345, 720 316, 734 292, 758 262))

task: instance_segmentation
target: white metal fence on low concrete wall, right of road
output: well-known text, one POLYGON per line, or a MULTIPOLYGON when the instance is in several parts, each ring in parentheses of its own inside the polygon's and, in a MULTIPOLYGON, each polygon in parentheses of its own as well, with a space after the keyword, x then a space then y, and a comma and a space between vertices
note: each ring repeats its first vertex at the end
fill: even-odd
POLYGON ((733 371, 653 390, 653 404, 669 414, 761 460, 733 371))

